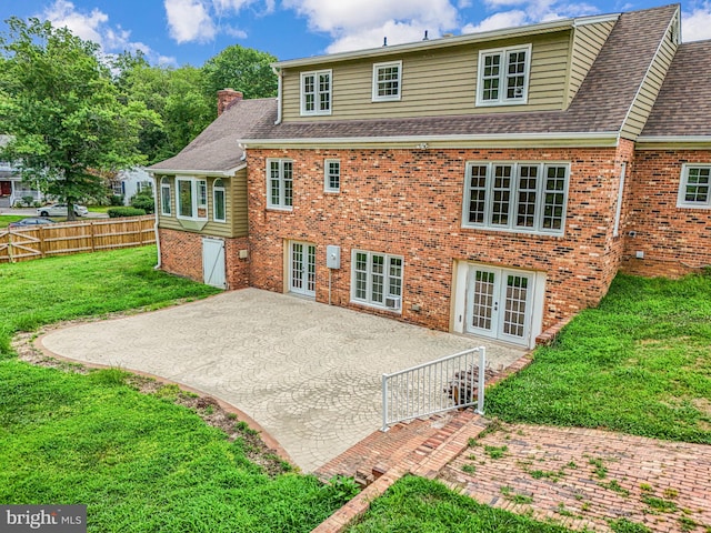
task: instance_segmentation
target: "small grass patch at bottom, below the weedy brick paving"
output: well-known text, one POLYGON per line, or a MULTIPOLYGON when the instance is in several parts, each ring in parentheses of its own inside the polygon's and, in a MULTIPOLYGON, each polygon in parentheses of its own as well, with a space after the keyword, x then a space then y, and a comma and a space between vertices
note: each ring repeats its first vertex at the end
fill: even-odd
POLYGON ((568 530, 482 505, 469 496, 457 494, 437 481, 405 476, 374 500, 363 517, 347 531, 562 533, 568 530))

